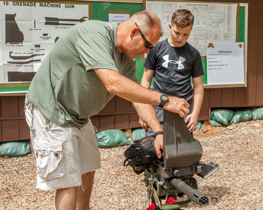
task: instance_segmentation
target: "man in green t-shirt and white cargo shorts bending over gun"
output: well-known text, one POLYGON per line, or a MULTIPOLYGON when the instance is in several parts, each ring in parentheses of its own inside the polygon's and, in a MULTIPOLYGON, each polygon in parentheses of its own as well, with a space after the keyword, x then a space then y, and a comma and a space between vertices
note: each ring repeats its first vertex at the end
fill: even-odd
POLYGON ((163 35, 159 19, 146 11, 122 24, 88 20, 55 43, 26 94, 25 114, 37 165, 37 188, 56 189, 57 210, 88 210, 95 170, 100 168, 96 128, 89 117, 118 95, 133 102, 156 133, 161 157, 163 135, 151 105, 184 116, 189 104, 140 86, 135 58, 163 35))

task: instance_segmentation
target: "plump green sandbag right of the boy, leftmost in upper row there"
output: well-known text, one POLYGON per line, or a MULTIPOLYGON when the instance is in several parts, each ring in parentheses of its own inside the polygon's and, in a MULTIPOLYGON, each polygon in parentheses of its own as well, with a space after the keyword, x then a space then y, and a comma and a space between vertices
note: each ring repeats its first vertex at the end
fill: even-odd
POLYGON ((228 109, 215 109, 211 111, 211 115, 209 116, 211 120, 214 120, 220 124, 228 125, 229 120, 234 116, 233 111, 228 109))

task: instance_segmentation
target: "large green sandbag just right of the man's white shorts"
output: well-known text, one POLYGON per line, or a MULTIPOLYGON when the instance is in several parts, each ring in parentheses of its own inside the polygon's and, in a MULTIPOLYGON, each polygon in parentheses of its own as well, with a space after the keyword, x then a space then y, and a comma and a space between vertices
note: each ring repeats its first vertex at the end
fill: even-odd
POLYGON ((127 136, 122 130, 103 130, 96 133, 98 147, 110 148, 115 146, 131 145, 127 136))

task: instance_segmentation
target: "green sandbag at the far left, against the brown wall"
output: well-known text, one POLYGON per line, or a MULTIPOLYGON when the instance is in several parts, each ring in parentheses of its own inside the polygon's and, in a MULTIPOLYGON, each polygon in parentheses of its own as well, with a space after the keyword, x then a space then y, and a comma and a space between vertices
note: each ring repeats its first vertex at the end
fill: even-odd
POLYGON ((28 140, 6 141, 0 143, 0 156, 21 157, 31 153, 28 140))

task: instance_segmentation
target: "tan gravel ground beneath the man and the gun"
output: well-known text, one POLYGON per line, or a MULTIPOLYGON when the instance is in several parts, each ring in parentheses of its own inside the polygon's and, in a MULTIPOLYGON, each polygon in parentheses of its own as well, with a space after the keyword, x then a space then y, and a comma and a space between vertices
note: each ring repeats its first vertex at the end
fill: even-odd
MULTIPOLYGON (((207 179, 195 176, 200 192, 209 197, 208 206, 193 209, 263 210, 263 120, 231 125, 207 125, 194 132, 203 146, 202 162, 220 168, 207 179)), ((101 149, 102 165, 95 174, 91 209, 144 210, 146 190, 143 175, 124 167, 128 146, 101 149)), ((0 159, 0 209, 55 209, 55 191, 36 190, 34 155, 0 159)))

